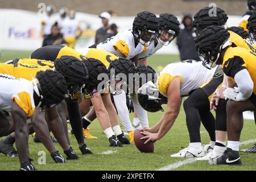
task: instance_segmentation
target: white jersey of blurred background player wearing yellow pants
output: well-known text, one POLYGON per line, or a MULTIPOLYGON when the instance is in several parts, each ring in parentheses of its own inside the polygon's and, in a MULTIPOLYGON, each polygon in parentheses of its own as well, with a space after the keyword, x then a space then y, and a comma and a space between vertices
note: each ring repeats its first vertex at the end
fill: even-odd
POLYGON ((79 21, 76 19, 66 18, 62 23, 61 31, 64 37, 75 37, 79 21))

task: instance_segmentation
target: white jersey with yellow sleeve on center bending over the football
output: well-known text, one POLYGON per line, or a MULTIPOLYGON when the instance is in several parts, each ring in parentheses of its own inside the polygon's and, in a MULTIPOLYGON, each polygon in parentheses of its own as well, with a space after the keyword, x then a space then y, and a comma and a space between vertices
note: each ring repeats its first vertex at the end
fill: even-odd
POLYGON ((164 67, 163 71, 160 72, 156 85, 158 86, 159 92, 167 97, 167 88, 172 79, 180 77, 182 80, 180 95, 181 97, 188 96, 189 92, 210 81, 216 69, 217 67, 212 69, 205 68, 201 61, 179 61, 164 67))

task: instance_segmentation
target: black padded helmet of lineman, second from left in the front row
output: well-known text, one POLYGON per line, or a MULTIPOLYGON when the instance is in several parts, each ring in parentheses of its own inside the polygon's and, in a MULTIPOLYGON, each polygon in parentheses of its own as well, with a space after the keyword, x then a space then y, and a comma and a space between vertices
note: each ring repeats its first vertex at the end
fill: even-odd
POLYGON ((81 89, 88 82, 89 74, 85 64, 73 56, 61 56, 54 61, 55 70, 64 76, 68 84, 69 99, 80 97, 81 89))

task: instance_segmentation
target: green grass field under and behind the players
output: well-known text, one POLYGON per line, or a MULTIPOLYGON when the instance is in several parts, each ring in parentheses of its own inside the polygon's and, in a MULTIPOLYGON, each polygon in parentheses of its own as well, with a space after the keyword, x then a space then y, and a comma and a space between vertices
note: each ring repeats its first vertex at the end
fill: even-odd
MULTIPOLYGON (((16 57, 24 58, 29 57, 31 52, 18 52, 18 51, 2 51, 0 61, 7 61, 15 59, 16 57)), ((149 59, 149 64, 156 70, 163 68, 165 65, 179 60, 177 55, 153 55, 149 59)), ((164 107, 166 108, 166 107, 164 107)), ((162 112, 148 113, 150 126, 154 126, 162 116, 162 112)), ((130 115, 131 120, 133 115, 130 115)), ((70 126, 69 126, 70 127, 70 126)), ((135 147, 135 144, 129 146, 125 145, 122 148, 109 147, 108 139, 102 134, 102 129, 97 121, 94 121, 90 126, 91 133, 98 137, 98 139, 88 140, 85 139, 88 147, 94 152, 93 155, 81 155, 77 146, 75 137, 70 135, 72 147, 80 156, 80 160, 66 161, 66 164, 55 164, 51 159, 49 152, 42 144, 34 143, 32 137, 29 137, 30 144, 30 158, 34 159, 35 167, 38 170, 99 170, 99 171, 115 171, 115 170, 156 170, 170 164, 175 164, 181 161, 187 161, 183 158, 171 158, 170 155, 178 152, 179 150, 188 146, 189 135, 185 123, 185 114, 183 108, 180 110, 179 117, 172 129, 155 143, 155 151, 153 154, 143 154, 135 147), (38 152, 46 152, 46 165, 38 164, 38 152), (105 154, 106 151, 113 151, 113 154, 105 154)), ((256 127, 254 121, 245 121, 241 134, 241 142, 256 138, 256 127)), ((201 125, 201 141, 203 144, 209 143, 209 136, 201 125)), ((240 148, 250 147, 253 143, 242 145, 240 148)), ((64 155, 63 150, 56 144, 57 150, 61 155, 64 155)), ((183 166, 174 168, 174 170, 238 170, 250 171, 256 170, 256 155, 240 153, 242 159, 242 166, 210 166, 208 162, 192 162, 184 164, 183 166)), ((18 158, 7 158, 5 155, 0 154, 0 170, 18 170, 18 158)))

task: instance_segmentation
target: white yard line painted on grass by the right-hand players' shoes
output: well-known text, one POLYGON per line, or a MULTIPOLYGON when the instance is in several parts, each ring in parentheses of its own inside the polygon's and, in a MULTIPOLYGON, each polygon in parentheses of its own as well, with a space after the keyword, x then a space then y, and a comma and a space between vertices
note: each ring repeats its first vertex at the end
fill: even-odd
MULTIPOLYGON (((256 138, 240 142, 240 145, 246 145, 246 144, 254 143, 254 142, 256 142, 256 138)), ((178 168, 178 167, 183 166, 185 164, 190 164, 190 163, 194 163, 194 162, 196 162, 195 158, 188 158, 188 159, 185 159, 185 160, 180 160, 180 161, 178 161, 174 164, 169 164, 169 165, 164 166, 162 168, 156 169, 156 171, 170 171, 172 169, 178 168)))

